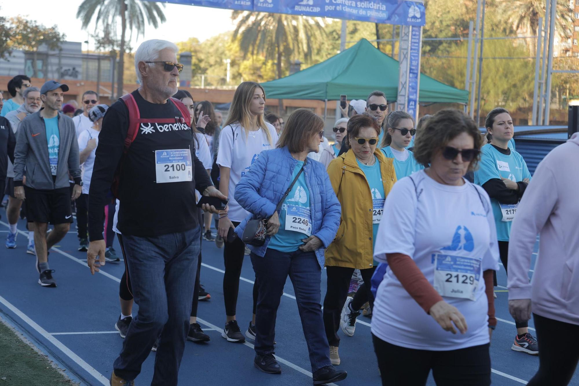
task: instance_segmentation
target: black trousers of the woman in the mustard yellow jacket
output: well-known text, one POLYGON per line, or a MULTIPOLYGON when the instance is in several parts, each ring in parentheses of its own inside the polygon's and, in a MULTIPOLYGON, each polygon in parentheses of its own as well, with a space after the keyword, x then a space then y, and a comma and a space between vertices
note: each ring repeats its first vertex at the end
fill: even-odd
MULTIPOLYGON (((360 270, 364 283, 369 283, 374 273, 374 267, 360 270)), ((328 289, 324 298, 324 327, 328 343, 331 346, 340 345, 338 329, 340 328, 340 314, 350 287, 350 279, 354 273, 354 268, 348 267, 326 267, 328 275, 328 289)), ((360 289, 358 289, 360 292, 360 289)), ((365 286, 366 298, 370 302, 370 308, 374 307, 374 296, 370 292, 370 286, 365 286)), ((363 299, 362 299, 363 300, 363 299)), ((364 300, 363 303, 366 303, 364 300)), ((358 305, 358 308, 361 307, 358 305)))

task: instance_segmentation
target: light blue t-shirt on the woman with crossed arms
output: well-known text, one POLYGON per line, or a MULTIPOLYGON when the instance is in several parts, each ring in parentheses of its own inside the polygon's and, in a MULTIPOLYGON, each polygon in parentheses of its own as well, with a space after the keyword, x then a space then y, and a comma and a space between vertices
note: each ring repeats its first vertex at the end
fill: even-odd
MULTIPOLYGON (((519 182, 523 179, 530 180, 531 173, 529 173, 522 155, 518 152, 511 150, 510 155, 505 155, 496 150, 490 143, 486 144, 481 148, 481 162, 479 162, 478 170, 474 172, 474 183, 482 186, 491 179, 500 179, 501 177, 519 182)), ((503 217, 507 217, 506 214, 503 214, 503 209, 515 208, 503 205, 503 209, 501 209, 499 201, 493 198, 490 199, 490 203, 493 207, 494 223, 497 226, 497 238, 499 241, 509 241, 512 221, 503 221, 503 217)))

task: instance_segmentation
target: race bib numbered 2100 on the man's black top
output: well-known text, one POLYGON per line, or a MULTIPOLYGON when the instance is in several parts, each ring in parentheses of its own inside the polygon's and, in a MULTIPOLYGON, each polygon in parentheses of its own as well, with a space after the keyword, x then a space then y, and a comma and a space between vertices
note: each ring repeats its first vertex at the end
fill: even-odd
POLYGON ((189 149, 155 151, 156 183, 193 181, 189 149))

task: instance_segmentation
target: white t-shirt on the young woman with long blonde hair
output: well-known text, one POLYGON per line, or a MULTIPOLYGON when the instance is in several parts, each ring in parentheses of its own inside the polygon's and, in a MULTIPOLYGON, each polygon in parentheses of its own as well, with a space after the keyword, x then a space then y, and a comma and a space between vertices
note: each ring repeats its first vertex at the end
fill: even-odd
POLYGON ((272 143, 267 141, 267 136, 262 129, 255 132, 245 133, 239 124, 225 126, 219 136, 219 151, 217 154, 217 165, 229 167, 229 220, 240 223, 250 214, 243 209, 234 199, 235 185, 239 183, 241 177, 250 170, 252 163, 256 161, 263 150, 269 150, 276 147, 277 133, 276 129, 266 123, 272 143), (233 128, 233 130, 232 130, 233 128), (235 138, 233 137, 235 133, 235 138))

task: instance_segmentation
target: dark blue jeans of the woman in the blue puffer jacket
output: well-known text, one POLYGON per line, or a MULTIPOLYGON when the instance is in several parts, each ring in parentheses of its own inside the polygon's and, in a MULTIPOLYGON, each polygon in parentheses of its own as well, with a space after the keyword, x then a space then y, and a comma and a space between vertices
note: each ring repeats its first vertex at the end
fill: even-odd
POLYGON ((251 263, 259 290, 255 313, 255 353, 273 354, 277 308, 285 280, 290 275, 312 372, 331 366, 320 304, 321 268, 316 254, 299 249, 295 252, 267 249, 263 257, 251 253, 251 263))

